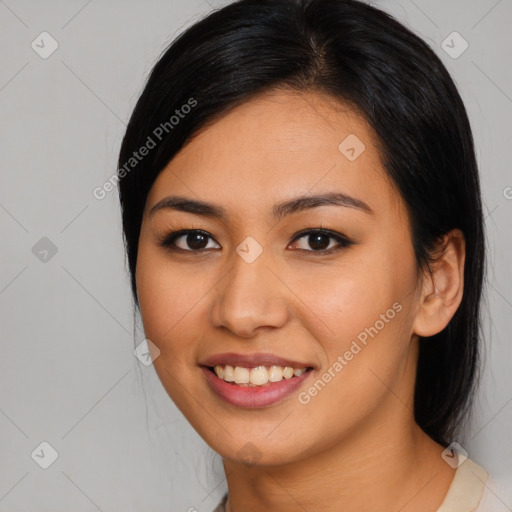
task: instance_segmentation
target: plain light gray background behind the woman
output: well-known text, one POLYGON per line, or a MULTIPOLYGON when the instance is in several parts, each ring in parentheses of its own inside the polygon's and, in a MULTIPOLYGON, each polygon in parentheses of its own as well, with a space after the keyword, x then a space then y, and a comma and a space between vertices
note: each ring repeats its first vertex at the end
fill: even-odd
MULTIPOLYGON (((161 51, 224 4, 0 0, 2 512, 210 511, 225 489, 220 458, 132 353, 117 192, 92 195, 161 51), (59 45, 46 59, 31 47, 43 31, 59 45), (31 458, 43 441, 59 455, 48 469, 31 458)), ((512 2, 373 4, 437 51, 471 117, 489 237, 486 367, 458 441, 490 472, 494 512, 512 510, 512 2), (458 58, 442 47, 453 31, 469 44, 458 58)))

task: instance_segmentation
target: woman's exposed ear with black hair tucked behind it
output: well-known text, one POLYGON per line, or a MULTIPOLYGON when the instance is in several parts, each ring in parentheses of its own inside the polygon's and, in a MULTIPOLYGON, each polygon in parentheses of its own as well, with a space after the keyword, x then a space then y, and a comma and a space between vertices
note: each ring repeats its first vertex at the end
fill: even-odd
POLYGON ((425 272, 413 332, 421 337, 441 332, 462 300, 466 241, 460 229, 444 235, 425 272))

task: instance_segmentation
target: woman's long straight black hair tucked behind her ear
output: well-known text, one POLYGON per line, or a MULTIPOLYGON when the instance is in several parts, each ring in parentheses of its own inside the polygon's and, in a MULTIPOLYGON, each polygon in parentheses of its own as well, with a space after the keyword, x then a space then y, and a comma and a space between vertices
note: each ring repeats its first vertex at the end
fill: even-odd
POLYGON ((153 67, 119 155, 119 197, 134 305, 146 198, 200 128, 256 94, 317 91, 374 130, 408 209, 419 269, 442 235, 466 241, 464 293, 448 326, 420 339, 414 414, 447 445, 478 380, 484 226, 473 137, 462 99, 434 51, 392 16, 355 0, 239 0, 179 35, 153 67), (139 148, 151 148, 134 158, 139 148))

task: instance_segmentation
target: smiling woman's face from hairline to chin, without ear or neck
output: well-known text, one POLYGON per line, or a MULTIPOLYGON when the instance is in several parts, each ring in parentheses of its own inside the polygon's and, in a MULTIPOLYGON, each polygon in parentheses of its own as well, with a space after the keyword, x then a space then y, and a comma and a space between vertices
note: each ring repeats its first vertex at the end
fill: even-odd
POLYGON ((413 422, 417 269, 374 140, 333 99, 276 90, 201 130, 148 195, 136 276, 154 366, 228 459, 283 464, 413 422), (329 194, 336 203, 314 200, 329 194), (152 211, 169 196, 223 215, 152 211), (331 233, 307 232, 319 228, 331 233), (201 232, 160 245, 176 230, 201 232), (312 370, 241 385, 278 380, 287 363, 312 370))

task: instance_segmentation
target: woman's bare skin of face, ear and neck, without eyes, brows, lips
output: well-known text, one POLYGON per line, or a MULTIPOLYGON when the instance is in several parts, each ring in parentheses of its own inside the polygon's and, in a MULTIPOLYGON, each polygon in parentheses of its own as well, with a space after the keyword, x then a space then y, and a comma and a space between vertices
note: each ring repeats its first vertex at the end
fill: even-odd
POLYGON ((160 350, 154 367, 167 393, 223 458, 229 511, 426 512, 453 479, 443 447, 414 421, 413 390, 418 336, 441 331, 460 303, 464 239, 449 233, 432 275, 418 269, 409 217, 375 140, 338 100, 275 89, 200 130, 147 197, 136 269, 145 333, 160 350), (365 144, 354 161, 338 149, 349 134, 365 144), (275 203, 332 191, 373 213, 323 205, 271 216, 275 203), (169 195, 214 203, 227 216, 149 215, 169 195), (292 242, 321 226, 353 245, 321 255, 307 235, 292 242), (208 248, 194 253, 186 236, 176 241, 182 251, 161 247, 177 229, 208 232, 208 248), (235 250, 248 236, 263 249, 252 263, 235 250), (394 303, 401 311, 301 404, 298 392, 394 303), (315 375, 277 404, 242 409, 211 391, 198 366, 223 352, 270 352, 314 365, 315 375))

